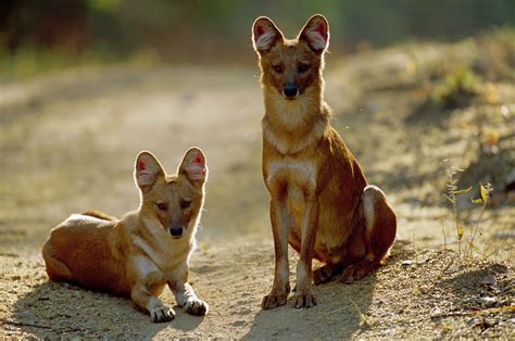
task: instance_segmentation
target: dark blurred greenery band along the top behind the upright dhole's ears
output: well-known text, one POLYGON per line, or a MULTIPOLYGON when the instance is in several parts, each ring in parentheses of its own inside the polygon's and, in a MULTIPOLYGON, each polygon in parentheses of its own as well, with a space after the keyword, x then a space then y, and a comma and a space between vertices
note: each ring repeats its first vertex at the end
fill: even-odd
POLYGON ((79 61, 253 62, 259 15, 289 37, 313 13, 330 22, 331 51, 353 53, 406 40, 454 41, 514 22, 511 0, 4 0, 0 55, 5 73, 79 61))

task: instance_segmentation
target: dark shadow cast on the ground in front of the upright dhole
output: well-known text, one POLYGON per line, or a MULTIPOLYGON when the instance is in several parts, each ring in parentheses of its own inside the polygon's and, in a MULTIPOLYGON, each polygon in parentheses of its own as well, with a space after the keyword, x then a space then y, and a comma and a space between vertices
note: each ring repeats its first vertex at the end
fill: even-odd
MULTIPOLYGON (((395 243, 391 258, 379 270, 410 257, 407 242, 395 243)), ((380 304, 374 291, 377 274, 344 285, 337 279, 315 287, 317 305, 309 310, 296 310, 293 296, 285 306, 261 310, 243 339, 349 339, 359 338, 366 330, 363 316, 373 305, 380 304)))

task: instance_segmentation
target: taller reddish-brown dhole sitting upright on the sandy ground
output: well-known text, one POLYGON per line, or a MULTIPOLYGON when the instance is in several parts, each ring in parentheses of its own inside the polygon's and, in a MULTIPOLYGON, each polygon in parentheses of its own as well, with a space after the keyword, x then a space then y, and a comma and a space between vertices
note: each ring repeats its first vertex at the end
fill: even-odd
POLYGON ((322 77, 328 40, 322 15, 310 18, 293 40, 285 39, 269 18, 260 17, 253 26, 265 104, 262 171, 276 254, 264 308, 286 303, 287 243, 300 253, 294 305, 310 307, 316 304, 313 278, 324 282, 341 271, 344 281, 362 278, 379 266, 395 237, 395 215, 385 194, 367 185, 329 123, 322 77), (314 274, 313 257, 326 263, 314 274))

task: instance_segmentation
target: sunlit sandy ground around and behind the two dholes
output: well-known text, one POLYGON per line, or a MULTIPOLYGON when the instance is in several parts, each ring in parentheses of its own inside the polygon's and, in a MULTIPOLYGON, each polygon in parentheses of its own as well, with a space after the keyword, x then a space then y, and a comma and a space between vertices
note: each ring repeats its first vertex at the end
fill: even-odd
MULTIPOLYGON (((328 61, 334 124, 369 181, 389 195, 403 242, 373 276, 317 287, 318 305, 305 311, 291 302, 260 308, 274 255, 260 174, 256 67, 118 65, 1 85, 0 337, 513 338, 513 239, 495 240, 513 235, 513 201, 501 199, 481 217, 483 255, 493 249, 493 256, 461 262, 438 247, 455 241, 442 160, 451 154, 457 165, 470 164, 470 117, 500 104, 475 103, 440 125, 413 123, 422 94, 406 63, 445 58, 441 48, 424 49, 328 61), (208 316, 177 308, 174 321, 151 324, 128 300, 48 281, 40 245, 52 226, 85 209, 118 216, 135 209, 136 154, 150 150, 173 169, 190 146, 204 150, 210 167, 191 263, 208 316)), ((513 84, 498 88, 514 113, 513 84)), ((478 215, 460 214, 467 228, 478 215)), ((169 292, 163 298, 174 303, 169 292)))

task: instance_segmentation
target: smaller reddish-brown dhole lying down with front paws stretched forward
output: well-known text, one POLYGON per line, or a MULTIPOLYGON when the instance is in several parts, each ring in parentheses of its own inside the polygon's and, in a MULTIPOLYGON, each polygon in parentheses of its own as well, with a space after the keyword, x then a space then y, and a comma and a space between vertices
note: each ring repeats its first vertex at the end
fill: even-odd
POLYGON ((168 285, 187 313, 205 315, 208 304, 187 281, 206 176, 198 148, 188 150, 176 175, 166 175, 154 155, 141 152, 135 164, 139 209, 122 219, 97 212, 71 215, 43 245, 48 276, 130 298, 154 323, 175 316, 158 298, 168 285))

